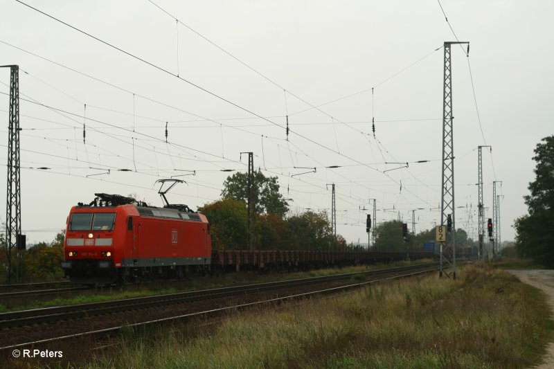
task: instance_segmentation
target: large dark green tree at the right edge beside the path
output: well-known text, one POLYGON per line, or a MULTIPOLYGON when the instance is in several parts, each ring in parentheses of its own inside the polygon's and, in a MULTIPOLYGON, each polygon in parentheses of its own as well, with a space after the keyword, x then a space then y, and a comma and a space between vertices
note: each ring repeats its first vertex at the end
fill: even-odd
POLYGON ((515 219, 517 252, 547 267, 554 267, 554 136, 541 140, 533 160, 535 181, 524 197, 528 214, 515 219))

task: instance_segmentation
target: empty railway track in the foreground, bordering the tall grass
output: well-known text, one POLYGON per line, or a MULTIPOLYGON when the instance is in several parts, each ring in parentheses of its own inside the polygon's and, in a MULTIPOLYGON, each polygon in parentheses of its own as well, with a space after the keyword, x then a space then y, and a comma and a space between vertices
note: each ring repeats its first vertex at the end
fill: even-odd
POLYGON ((29 345, 51 343, 52 341, 59 341, 62 339, 85 336, 105 336, 106 334, 109 335, 113 332, 117 332, 122 329, 123 326, 136 327, 139 325, 161 323, 163 321, 172 321, 202 314, 218 314, 235 308, 273 303, 292 298, 337 293, 368 285, 369 283, 379 280, 404 278, 406 276, 429 273, 437 270, 438 263, 420 264, 410 267, 345 273, 334 276, 269 282, 258 285, 225 287, 163 296, 150 296, 146 298, 130 298, 106 303, 4 313, 0 314, 0 326, 3 329, 3 333, 7 333, 4 334, 4 336, 7 338, 8 334, 10 334, 12 339, 2 340, 1 345, 3 345, 3 347, 0 347, 0 352, 7 352, 8 349, 29 345), (362 279, 364 280, 352 282, 352 278, 358 279, 357 276, 363 276, 362 279), (337 283, 341 282, 343 283, 342 285, 337 285, 337 283), (314 288, 314 286, 321 284, 325 284, 326 287, 321 286, 314 288), (212 300, 212 302, 208 303, 206 300, 212 300), (177 304, 181 304, 181 306, 186 308, 177 309, 173 307, 177 304), (158 308, 151 309, 152 307, 158 308), (136 312, 137 310, 141 310, 142 312, 138 313, 136 312), (161 310, 165 312, 161 313, 161 310), (121 316, 111 313, 118 313, 121 316), (125 314, 127 314, 127 316, 132 314, 134 317, 143 316, 143 319, 142 321, 139 319, 139 321, 134 321, 134 323, 128 323, 127 319, 123 318, 125 314), (68 323, 70 320, 78 323, 68 323), (89 323, 92 321, 93 324, 87 324, 87 321, 89 323), (103 324, 100 324, 100 322, 103 324), (116 325, 114 322, 119 324, 114 327, 114 325, 116 325), (121 325, 121 322, 125 322, 125 325, 121 325), (46 325, 41 325, 41 330, 36 330, 36 324, 46 325), (12 332, 12 330, 14 332, 12 332), (14 339, 19 340, 19 343, 14 342, 14 339), (21 343, 21 340, 24 339, 27 339, 26 343, 21 343), (32 339, 34 339, 34 341, 32 339))

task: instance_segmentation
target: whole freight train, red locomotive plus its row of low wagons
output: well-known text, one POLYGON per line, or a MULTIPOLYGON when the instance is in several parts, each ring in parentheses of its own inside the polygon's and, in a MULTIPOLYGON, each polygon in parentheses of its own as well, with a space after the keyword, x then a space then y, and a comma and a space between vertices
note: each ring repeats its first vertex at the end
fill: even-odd
POLYGON ((186 205, 148 206, 132 197, 97 193, 67 217, 64 269, 73 282, 111 284, 154 277, 179 278, 212 270, 310 269, 432 258, 426 251, 212 251, 206 216, 186 205))

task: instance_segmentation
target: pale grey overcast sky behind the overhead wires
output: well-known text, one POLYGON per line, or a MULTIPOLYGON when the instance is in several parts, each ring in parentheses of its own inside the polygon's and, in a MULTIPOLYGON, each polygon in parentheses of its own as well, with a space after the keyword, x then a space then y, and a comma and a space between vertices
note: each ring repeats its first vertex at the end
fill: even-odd
MULTIPOLYGON (((348 242, 367 241, 369 199, 377 222, 400 217, 411 228, 420 209, 415 231, 431 228, 449 26, 471 44, 469 58, 452 47, 457 228, 476 238, 477 146, 491 145, 485 218, 492 182, 502 181, 501 237, 512 240, 533 150, 553 134, 552 1, 24 2, 105 42, 0 0, 0 64, 20 67, 21 222, 31 243, 53 240, 71 206, 95 192, 160 206, 154 182, 195 171, 176 177, 188 185, 168 198, 215 201, 232 174, 222 170, 247 170, 240 152, 278 177, 292 214, 329 212, 335 183, 337 233, 348 242)), ((0 69, 4 163, 9 80, 0 69)))

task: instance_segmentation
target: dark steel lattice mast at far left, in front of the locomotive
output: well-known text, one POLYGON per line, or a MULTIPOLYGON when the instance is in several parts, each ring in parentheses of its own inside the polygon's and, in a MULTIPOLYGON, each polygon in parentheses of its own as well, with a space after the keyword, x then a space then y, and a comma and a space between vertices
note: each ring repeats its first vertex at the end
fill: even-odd
POLYGON ((8 275, 6 280, 12 282, 13 260, 12 249, 17 249, 17 281, 21 278, 21 251, 25 249, 24 237, 21 235, 21 177, 19 175, 19 66, 3 65, 10 68, 10 109, 8 120, 8 186, 6 199, 6 253, 8 257, 8 275))

